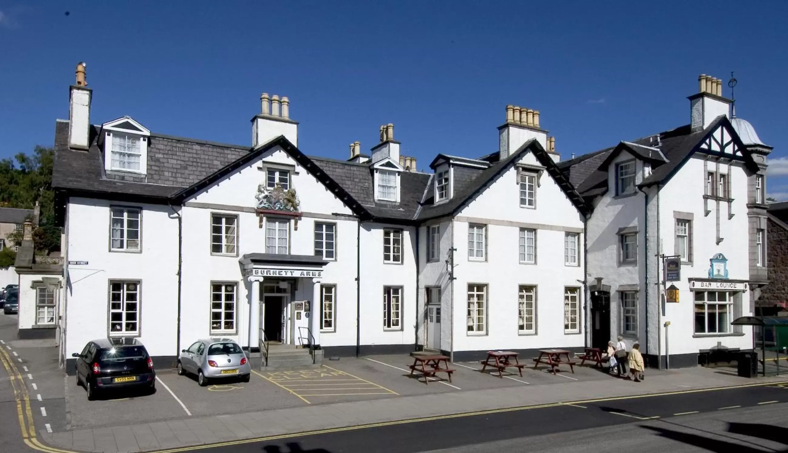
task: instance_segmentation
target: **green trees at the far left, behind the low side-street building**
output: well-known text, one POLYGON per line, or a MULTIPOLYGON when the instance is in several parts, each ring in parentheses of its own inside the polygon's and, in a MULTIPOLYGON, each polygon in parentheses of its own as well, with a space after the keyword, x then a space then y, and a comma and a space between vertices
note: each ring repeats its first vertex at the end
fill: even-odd
MULTIPOLYGON (((54 149, 36 146, 32 154, 19 153, 13 159, 0 160, 0 206, 32 210, 39 202, 39 226, 33 231, 36 251, 60 250, 60 228, 54 221, 52 168, 54 149)), ((21 232, 8 239, 16 245, 21 232)))

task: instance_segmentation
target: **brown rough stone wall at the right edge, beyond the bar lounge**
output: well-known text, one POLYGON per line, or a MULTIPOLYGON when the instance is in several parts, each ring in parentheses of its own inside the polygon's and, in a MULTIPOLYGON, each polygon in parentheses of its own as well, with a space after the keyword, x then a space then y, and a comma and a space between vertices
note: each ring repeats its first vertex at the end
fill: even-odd
POLYGON ((759 306, 774 306, 788 301, 788 229, 773 218, 769 218, 768 222, 769 284, 760 293, 759 306))

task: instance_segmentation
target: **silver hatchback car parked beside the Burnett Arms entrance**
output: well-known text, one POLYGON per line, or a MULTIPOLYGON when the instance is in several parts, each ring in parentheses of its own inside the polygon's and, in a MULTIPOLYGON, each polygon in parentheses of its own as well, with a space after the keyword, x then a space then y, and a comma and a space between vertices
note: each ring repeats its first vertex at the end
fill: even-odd
POLYGON ((205 387, 214 378, 240 377, 249 382, 251 366, 238 343, 229 338, 209 338, 180 351, 178 374, 186 373, 196 374, 197 383, 205 387))

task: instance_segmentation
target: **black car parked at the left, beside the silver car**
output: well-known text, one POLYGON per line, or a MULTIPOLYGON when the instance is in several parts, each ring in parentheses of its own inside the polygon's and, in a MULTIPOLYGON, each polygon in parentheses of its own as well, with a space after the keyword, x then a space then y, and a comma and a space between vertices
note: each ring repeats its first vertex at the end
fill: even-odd
POLYGON ((134 338, 93 340, 72 357, 76 357, 76 384, 87 390, 87 399, 120 389, 156 390, 153 360, 143 344, 134 338))

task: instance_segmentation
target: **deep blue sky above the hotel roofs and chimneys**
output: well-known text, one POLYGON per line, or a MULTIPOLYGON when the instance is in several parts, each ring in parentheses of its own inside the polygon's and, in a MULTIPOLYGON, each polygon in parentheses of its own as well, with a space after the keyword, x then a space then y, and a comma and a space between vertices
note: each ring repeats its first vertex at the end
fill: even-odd
POLYGON ((52 144, 78 61, 94 123, 251 145, 267 91, 307 154, 348 158, 390 122, 419 169, 496 150, 510 103, 563 158, 675 128, 698 74, 735 71, 788 199, 788 2, 226 3, 0 0, 0 158, 52 144))

